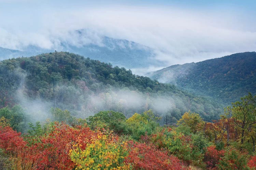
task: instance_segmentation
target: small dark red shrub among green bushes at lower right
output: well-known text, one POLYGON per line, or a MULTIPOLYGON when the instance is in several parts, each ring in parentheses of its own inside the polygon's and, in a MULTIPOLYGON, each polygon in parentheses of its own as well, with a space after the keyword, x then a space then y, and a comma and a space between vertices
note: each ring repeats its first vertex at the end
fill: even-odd
POLYGON ((215 146, 210 146, 204 154, 203 161, 206 163, 207 168, 217 169, 216 165, 222 156, 224 156, 224 150, 217 151, 215 146))

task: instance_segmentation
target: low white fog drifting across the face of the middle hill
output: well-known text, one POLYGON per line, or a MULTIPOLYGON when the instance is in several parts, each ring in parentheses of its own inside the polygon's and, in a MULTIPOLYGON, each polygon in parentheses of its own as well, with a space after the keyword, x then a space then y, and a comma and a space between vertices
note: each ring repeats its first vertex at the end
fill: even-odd
POLYGON ((61 91, 61 89, 72 89, 74 93, 71 95, 69 90, 63 91, 63 94, 61 94, 64 97, 63 102, 59 100, 59 97, 57 97, 56 102, 55 100, 44 100, 40 97, 30 98, 26 95, 26 89, 22 87, 16 91, 15 97, 29 117, 28 121, 31 122, 44 122, 46 119, 52 119, 51 107, 67 109, 72 116, 77 118, 88 118, 99 111, 106 110, 122 112, 129 118, 134 113, 143 113, 148 109, 152 109, 156 115, 162 116, 176 108, 172 97, 150 96, 128 88, 120 90, 106 89, 104 92, 92 93, 87 97, 84 97, 78 92, 79 89, 72 86, 65 87, 62 85, 59 90, 61 91), (66 103, 67 101, 68 103, 66 103))

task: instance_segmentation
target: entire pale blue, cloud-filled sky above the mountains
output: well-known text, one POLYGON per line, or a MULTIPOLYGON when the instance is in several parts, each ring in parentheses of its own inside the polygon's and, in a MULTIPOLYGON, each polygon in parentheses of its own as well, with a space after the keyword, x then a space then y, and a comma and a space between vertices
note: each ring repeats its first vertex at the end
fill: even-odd
POLYGON ((0 47, 58 49, 101 36, 155 49, 168 65, 256 49, 256 1, 0 0, 0 47), (84 40, 70 32, 87 30, 84 40))

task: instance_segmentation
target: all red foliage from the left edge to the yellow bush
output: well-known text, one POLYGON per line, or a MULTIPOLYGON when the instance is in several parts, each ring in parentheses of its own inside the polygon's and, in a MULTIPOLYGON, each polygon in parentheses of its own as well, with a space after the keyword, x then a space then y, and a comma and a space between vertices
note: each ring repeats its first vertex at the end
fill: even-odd
POLYGON ((69 156, 72 145, 80 143, 81 149, 85 149, 90 139, 97 135, 89 128, 74 129, 66 124, 56 124, 52 133, 41 137, 41 142, 27 146, 20 133, 9 126, 0 127, 0 148, 36 169, 72 169, 75 167, 69 156))

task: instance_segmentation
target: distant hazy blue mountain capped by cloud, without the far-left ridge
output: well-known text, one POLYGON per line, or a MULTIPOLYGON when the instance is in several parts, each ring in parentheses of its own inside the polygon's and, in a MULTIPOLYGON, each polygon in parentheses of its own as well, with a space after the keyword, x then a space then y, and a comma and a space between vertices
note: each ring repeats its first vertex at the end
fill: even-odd
MULTIPOLYGON (((81 35, 83 36, 83 35, 81 35)), ((62 43, 63 51, 69 51, 94 60, 111 63, 114 66, 125 68, 141 68, 150 65, 161 66, 163 63, 152 60, 155 56, 154 50, 125 39, 114 39, 103 36, 102 46, 88 44, 76 47, 62 43)))

